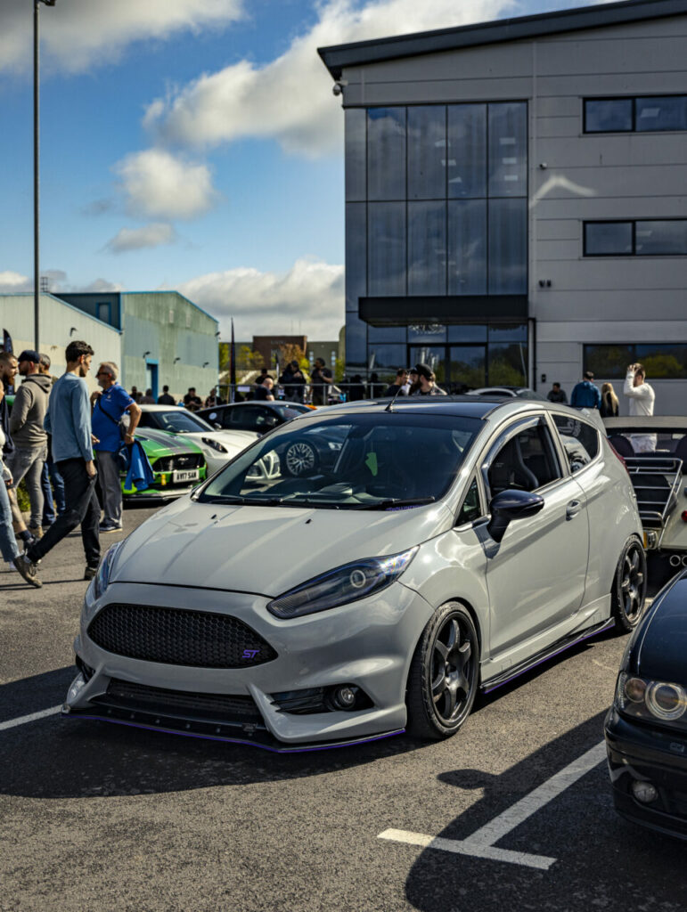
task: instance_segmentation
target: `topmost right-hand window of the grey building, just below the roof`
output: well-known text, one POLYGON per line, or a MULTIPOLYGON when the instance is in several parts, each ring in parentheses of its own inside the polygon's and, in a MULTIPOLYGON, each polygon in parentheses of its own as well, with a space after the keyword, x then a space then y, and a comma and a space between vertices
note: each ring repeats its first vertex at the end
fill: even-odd
POLYGON ((585 99, 585 133, 661 130, 687 130, 687 95, 585 99))

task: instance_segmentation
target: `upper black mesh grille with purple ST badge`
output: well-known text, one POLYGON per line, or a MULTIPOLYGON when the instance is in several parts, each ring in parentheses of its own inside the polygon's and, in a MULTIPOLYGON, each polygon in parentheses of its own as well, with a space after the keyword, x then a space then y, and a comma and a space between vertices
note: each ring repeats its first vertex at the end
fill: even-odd
POLYGON ((252 668, 276 658, 263 637, 236 617, 161 608, 107 605, 88 636, 119 656, 196 668, 252 668))

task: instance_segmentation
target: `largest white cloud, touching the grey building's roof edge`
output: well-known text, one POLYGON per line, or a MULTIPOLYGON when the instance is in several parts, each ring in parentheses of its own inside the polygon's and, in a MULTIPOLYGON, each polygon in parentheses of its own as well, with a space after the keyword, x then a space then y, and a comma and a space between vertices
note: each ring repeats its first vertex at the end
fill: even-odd
POLYGON ((515 0, 328 0, 317 22, 264 67, 242 60, 155 99, 144 122, 162 140, 189 146, 274 137, 307 156, 340 151, 343 117, 317 56, 326 47, 380 36, 484 22, 513 12, 515 0))

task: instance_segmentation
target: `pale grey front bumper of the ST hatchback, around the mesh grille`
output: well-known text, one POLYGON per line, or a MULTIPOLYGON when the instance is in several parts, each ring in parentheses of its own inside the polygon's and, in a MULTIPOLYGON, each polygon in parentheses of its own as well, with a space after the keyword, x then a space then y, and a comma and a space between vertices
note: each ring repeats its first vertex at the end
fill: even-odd
MULTIPOLYGON (((88 590, 90 593, 90 589, 88 590)), ((432 608, 394 583, 376 596, 280 620, 268 599, 180 586, 115 583, 88 600, 75 642, 79 675, 63 714, 172 731, 276 751, 369 741, 403 731, 411 657, 432 608), (160 606, 237 618, 276 651, 243 668, 163 664, 109 652, 88 636, 109 604, 160 606), (275 694, 354 685, 369 699, 356 710, 287 711, 275 694), (200 708, 199 708, 200 707, 200 708)))

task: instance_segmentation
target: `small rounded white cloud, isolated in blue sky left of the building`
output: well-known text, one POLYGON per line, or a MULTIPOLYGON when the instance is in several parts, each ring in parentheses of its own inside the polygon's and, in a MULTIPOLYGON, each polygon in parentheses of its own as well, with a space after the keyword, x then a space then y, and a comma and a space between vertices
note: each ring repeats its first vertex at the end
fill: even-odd
POLYGON ((191 219, 211 208, 216 198, 210 168, 183 161, 170 152, 132 152, 114 166, 130 215, 191 219))

